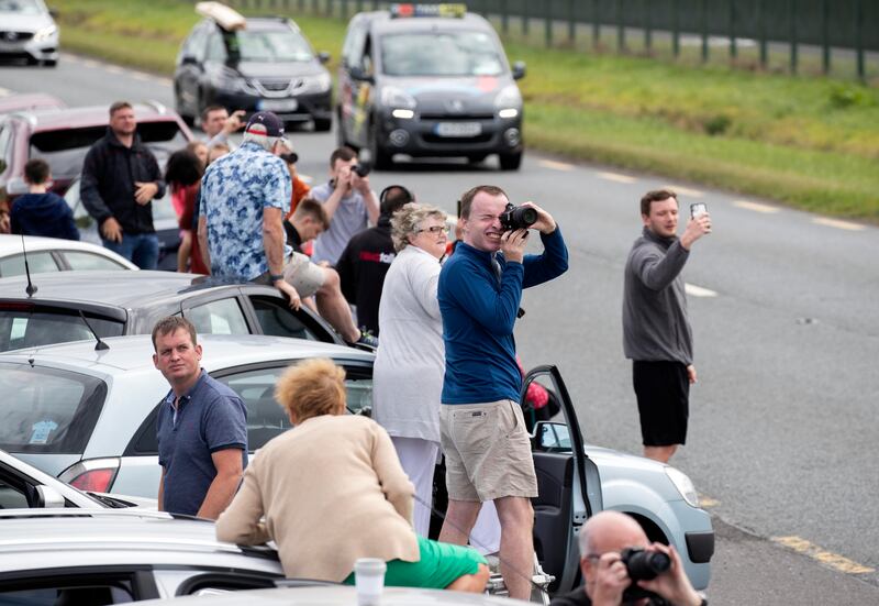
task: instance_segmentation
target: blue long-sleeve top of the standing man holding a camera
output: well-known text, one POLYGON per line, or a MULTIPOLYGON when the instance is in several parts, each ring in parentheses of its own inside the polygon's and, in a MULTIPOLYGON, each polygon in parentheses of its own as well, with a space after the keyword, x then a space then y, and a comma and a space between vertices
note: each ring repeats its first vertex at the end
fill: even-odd
POLYGON ((568 249, 558 228, 541 233, 544 252, 522 263, 496 258, 461 242, 439 274, 439 311, 446 371, 443 404, 519 401, 522 374, 515 360, 515 326, 522 289, 548 282, 568 268, 568 249))

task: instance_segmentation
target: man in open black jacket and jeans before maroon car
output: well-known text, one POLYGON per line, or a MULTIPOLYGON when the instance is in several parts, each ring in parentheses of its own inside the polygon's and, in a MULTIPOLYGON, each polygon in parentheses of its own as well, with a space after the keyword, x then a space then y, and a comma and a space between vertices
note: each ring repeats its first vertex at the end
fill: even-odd
POLYGON ((103 245, 141 269, 158 265, 153 205, 165 181, 153 152, 135 132, 137 120, 126 101, 110 106, 110 125, 86 154, 80 196, 98 222, 103 245))

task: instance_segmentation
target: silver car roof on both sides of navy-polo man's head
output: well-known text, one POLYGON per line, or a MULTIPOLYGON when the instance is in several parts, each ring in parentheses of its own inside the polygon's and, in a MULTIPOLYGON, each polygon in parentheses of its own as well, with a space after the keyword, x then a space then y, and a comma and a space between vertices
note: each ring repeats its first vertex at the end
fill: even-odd
MULTIPOLYGON (((149 334, 111 337, 103 339, 103 342, 110 349, 96 350, 94 341, 76 341, 3 352, 0 354, 0 362, 64 366, 109 375, 155 370, 149 334)), ((371 352, 344 345, 265 334, 201 334, 198 342, 204 352, 202 366, 208 372, 307 357, 333 357, 364 363, 369 363, 375 357, 371 352)))

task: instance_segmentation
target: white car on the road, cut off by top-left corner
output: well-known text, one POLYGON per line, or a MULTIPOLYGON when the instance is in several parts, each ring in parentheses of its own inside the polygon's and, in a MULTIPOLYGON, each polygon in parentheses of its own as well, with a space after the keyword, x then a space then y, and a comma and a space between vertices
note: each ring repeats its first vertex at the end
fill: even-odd
POLYGON ((57 65, 58 26, 43 0, 0 0, 0 57, 57 65))

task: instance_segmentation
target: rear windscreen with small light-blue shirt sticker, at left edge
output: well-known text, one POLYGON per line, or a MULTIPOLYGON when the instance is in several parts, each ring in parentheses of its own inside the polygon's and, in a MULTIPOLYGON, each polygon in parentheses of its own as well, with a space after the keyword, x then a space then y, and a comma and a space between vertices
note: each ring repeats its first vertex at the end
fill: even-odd
POLYGON ((0 362, 0 449, 81 454, 107 398, 96 377, 40 365, 0 362))

